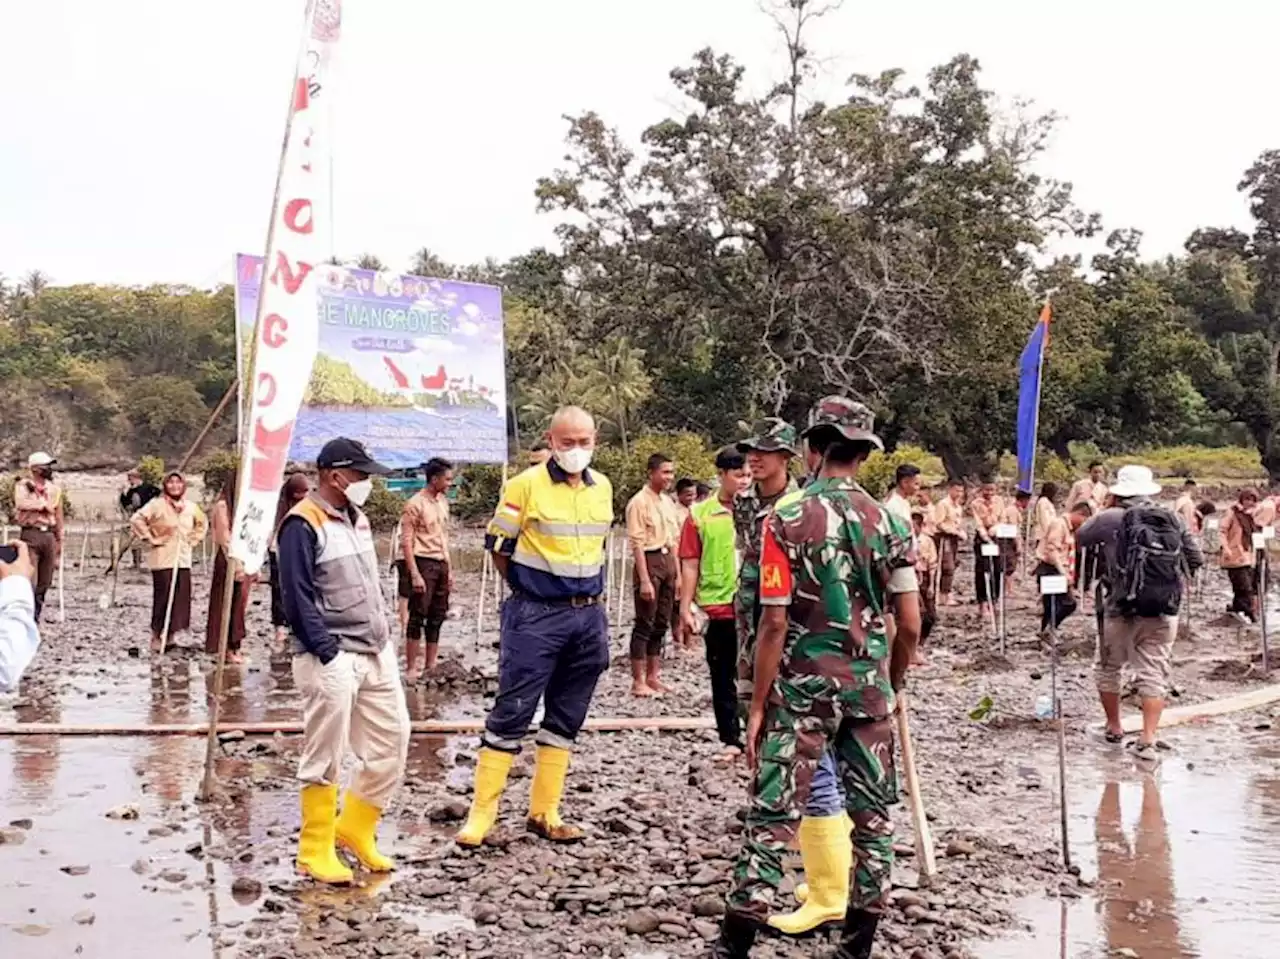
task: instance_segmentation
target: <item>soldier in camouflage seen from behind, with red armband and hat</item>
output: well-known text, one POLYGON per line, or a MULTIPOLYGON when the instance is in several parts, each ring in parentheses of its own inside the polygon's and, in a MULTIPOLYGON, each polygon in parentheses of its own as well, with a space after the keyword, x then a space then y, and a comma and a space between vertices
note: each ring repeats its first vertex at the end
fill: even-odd
POLYGON ((870 956, 893 862, 893 690, 920 627, 911 533, 854 479, 870 451, 881 448, 873 425, 860 403, 820 401, 805 430, 810 448, 823 456, 818 479, 778 503, 765 522, 746 737, 755 778, 712 953, 717 959, 749 955, 828 749, 837 758, 858 850, 836 955, 870 956), (884 626, 890 613, 897 626, 892 641, 884 626))

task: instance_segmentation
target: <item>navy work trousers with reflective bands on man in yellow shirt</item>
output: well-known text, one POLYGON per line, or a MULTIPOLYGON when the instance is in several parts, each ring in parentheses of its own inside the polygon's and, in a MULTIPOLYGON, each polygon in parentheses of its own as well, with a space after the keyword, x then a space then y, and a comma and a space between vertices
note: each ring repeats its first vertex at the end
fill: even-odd
POLYGON ((568 749, 586 721, 600 673, 609 667, 604 606, 562 606, 513 594, 502 606, 498 698, 484 744, 520 752, 539 697, 545 704, 541 745, 568 749))

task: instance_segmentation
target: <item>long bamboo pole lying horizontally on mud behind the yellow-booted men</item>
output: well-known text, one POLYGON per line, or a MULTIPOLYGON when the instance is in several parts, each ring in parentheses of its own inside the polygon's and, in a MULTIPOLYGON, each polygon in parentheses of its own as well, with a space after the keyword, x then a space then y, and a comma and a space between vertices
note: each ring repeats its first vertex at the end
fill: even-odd
MULTIPOLYGON (((215 677, 216 682, 216 677, 215 677)), ((484 720, 420 720, 410 727, 420 736, 474 735, 484 731, 484 720)), ((207 736, 210 729, 216 736, 227 732, 243 732, 246 736, 301 736, 302 722, 219 722, 214 726, 204 722, 170 723, 58 723, 23 722, 13 726, 0 726, 0 739, 12 736, 207 736)), ((584 729, 589 732, 695 732, 716 729, 716 721, 709 716, 621 716, 603 720, 588 720, 584 729)), ((534 732, 530 729, 530 732, 534 732)))

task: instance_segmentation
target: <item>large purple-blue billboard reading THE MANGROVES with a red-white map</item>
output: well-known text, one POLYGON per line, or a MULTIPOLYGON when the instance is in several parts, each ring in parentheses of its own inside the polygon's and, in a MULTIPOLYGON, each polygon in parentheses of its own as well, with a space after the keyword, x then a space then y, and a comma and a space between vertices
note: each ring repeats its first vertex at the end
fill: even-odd
MULTIPOLYGON (((238 256, 242 341, 261 283, 262 259, 238 256)), ((333 265, 316 268, 315 289, 320 342, 291 460, 314 462, 326 440, 351 437, 397 469, 507 461, 500 289, 333 265)))

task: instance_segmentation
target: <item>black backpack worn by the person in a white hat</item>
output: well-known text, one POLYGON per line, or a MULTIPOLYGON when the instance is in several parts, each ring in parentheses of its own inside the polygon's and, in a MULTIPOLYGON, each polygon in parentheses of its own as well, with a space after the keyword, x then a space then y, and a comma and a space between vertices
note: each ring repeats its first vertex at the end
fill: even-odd
POLYGON ((1176 616, 1183 602, 1183 524, 1160 506, 1133 506, 1116 538, 1112 595, 1125 616, 1176 616))

